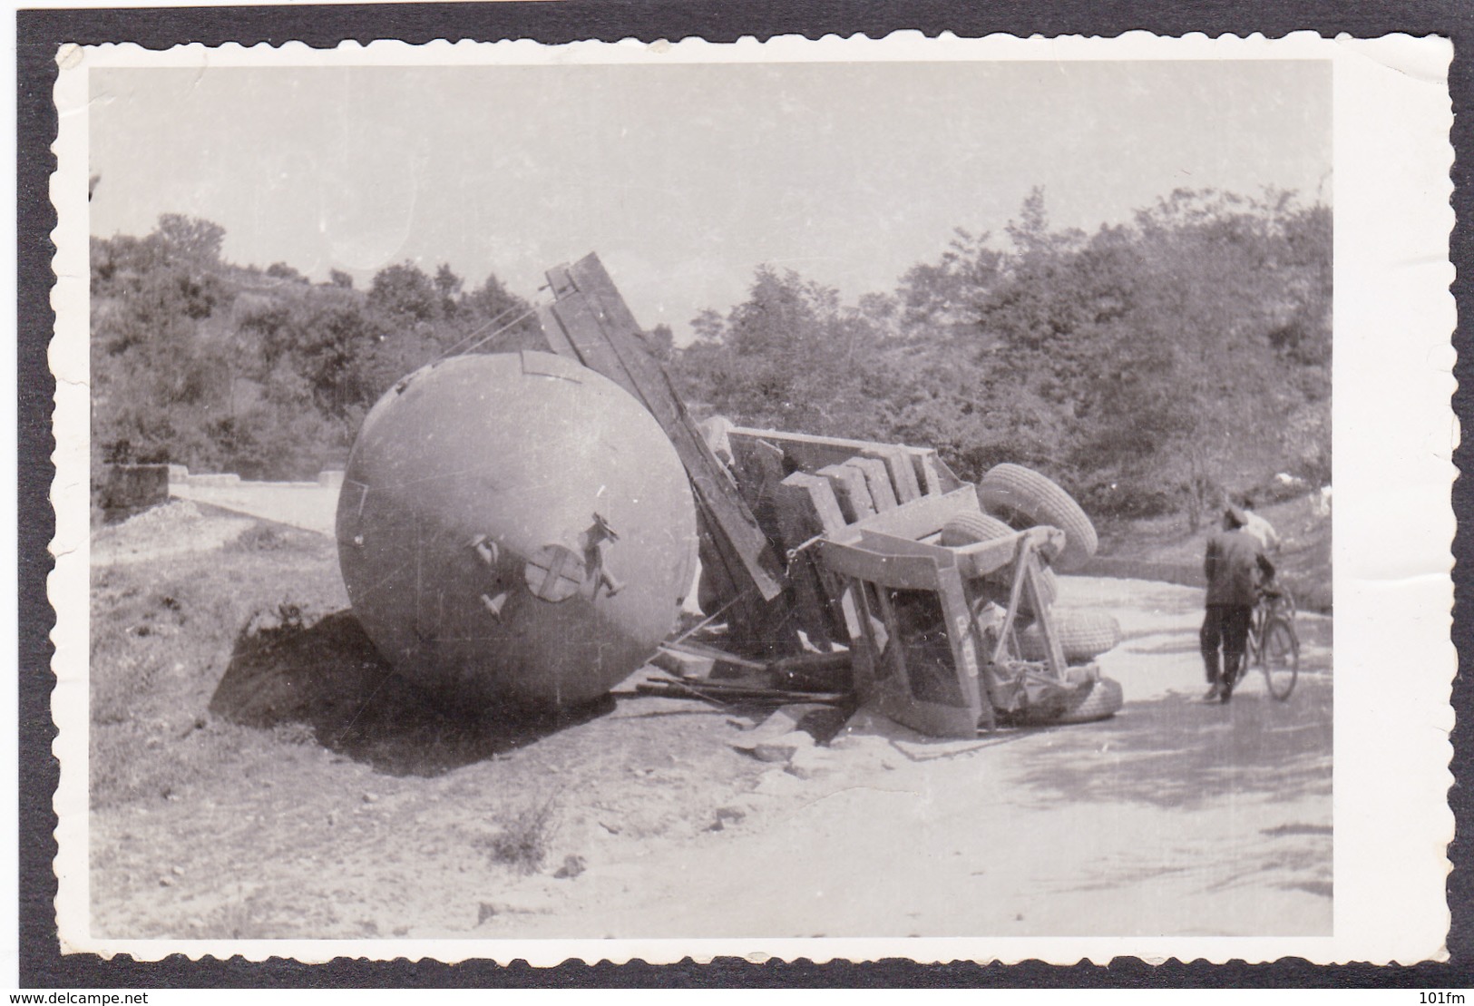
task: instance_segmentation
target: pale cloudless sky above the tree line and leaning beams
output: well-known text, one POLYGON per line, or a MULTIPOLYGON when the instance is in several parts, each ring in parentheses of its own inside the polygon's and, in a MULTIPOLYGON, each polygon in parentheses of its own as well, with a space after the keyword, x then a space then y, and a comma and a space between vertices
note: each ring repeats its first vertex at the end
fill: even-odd
POLYGON ((1179 187, 1331 199, 1327 62, 128 68, 91 96, 93 235, 183 212, 243 266, 450 263, 529 299, 597 251, 678 339, 765 263, 890 292, 1035 186, 1086 232, 1179 187))

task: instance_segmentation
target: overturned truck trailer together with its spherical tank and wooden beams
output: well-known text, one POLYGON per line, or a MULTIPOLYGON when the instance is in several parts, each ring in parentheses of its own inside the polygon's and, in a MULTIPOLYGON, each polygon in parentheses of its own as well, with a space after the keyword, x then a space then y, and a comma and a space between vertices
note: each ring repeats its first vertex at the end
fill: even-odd
POLYGON ((340 566, 401 673, 482 707, 585 702, 671 636, 699 552, 725 651, 843 662, 855 702, 923 733, 1120 708, 1091 661, 1114 622, 1052 611, 1054 571, 1097 546, 1054 482, 783 431, 708 443, 598 258, 548 282, 541 344, 423 367, 354 444, 340 566))

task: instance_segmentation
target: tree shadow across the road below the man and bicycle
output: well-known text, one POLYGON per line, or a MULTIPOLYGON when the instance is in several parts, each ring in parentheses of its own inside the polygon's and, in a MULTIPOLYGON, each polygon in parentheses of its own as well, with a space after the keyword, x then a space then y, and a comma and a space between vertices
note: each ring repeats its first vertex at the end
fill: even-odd
POLYGON ((1051 757, 1021 780, 1051 801, 1194 808, 1225 795, 1330 794, 1331 683, 1302 676, 1288 702, 1247 687, 1228 705, 1187 695, 1129 702, 1051 740, 1051 757))

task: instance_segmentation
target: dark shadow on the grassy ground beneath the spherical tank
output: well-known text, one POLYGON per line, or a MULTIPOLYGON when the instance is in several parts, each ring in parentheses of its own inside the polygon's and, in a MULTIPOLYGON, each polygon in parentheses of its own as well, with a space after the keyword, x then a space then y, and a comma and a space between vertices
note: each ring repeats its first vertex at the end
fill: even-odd
POLYGON ((248 627, 209 711, 251 727, 302 724, 324 748, 397 776, 433 776, 539 740, 612 711, 607 696, 556 715, 464 714, 399 677, 358 620, 248 627))

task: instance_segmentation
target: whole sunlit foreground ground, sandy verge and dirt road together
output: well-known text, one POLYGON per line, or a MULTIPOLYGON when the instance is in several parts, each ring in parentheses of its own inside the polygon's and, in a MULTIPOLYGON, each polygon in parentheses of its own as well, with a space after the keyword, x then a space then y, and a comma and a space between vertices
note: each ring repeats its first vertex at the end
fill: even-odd
POLYGON ((183 708, 183 736, 128 755, 276 711, 265 743, 190 785, 93 811, 94 935, 1330 934, 1330 620, 1302 617, 1288 702, 1251 677, 1209 705, 1201 592, 1064 577, 1058 603, 1126 633, 1100 658, 1125 689, 1114 718, 937 742, 861 712, 789 763, 736 746, 756 717, 653 698, 433 760, 405 736, 345 740, 370 705, 392 733, 413 699, 332 615, 270 659, 233 655, 209 715, 183 708), (358 705, 332 720, 312 687, 358 705), (526 873, 489 850, 538 811, 547 857, 526 873))

